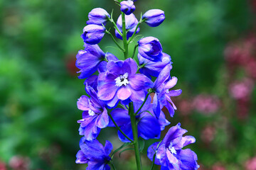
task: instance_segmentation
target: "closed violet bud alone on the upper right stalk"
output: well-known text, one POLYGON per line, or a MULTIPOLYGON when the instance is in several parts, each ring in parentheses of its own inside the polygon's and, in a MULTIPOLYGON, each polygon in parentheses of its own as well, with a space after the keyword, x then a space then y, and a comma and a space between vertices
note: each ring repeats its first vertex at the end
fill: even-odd
POLYGON ((144 13, 142 19, 145 19, 145 23, 151 27, 159 26, 165 19, 164 11, 161 11, 160 9, 151 9, 144 13))

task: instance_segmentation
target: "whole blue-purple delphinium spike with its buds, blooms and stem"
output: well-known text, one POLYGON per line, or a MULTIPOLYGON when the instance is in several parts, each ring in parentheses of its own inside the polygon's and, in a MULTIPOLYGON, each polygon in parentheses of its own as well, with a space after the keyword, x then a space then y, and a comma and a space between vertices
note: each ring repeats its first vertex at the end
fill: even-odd
MULTIPOLYGON (((164 11, 151 9, 138 21, 133 14, 134 1, 118 2, 122 14, 116 23, 112 14, 103 8, 90 11, 87 26, 81 35, 85 49, 80 50, 76 56, 75 65, 80 69, 78 78, 85 79, 87 93, 87 96, 82 95, 78 99, 78 109, 83 111, 82 119, 78 120, 79 134, 83 137, 76 163, 88 164, 87 169, 104 170, 110 169, 108 164, 112 165, 109 156, 111 143, 107 141, 103 147, 96 139, 100 130, 107 127, 116 127, 119 139, 134 145, 138 162, 138 138, 160 138, 161 131, 170 124, 161 109, 165 106, 173 117, 177 108, 171 98, 181 94, 181 89, 172 90, 178 79, 171 77, 171 57, 163 52, 157 38, 146 37, 137 42, 134 53, 138 47, 138 63, 134 55, 129 56, 128 53, 128 45, 134 40, 134 35, 139 33, 139 25, 146 23, 151 27, 159 26, 165 19, 164 11), (113 24, 115 35, 123 41, 123 47, 105 28, 107 22, 113 24), (124 60, 103 52, 97 45, 105 33, 111 35, 124 52, 124 60), (155 81, 152 81, 153 77, 155 81), (151 98, 150 94, 154 97, 151 98)), ((149 159, 156 154, 156 161, 153 162, 161 164, 165 169, 198 169, 196 154, 190 149, 181 149, 195 142, 193 137, 182 137, 185 132, 180 124, 171 128, 159 147, 156 144, 149 147, 149 159)), ((137 164, 138 169, 139 166, 137 164)))

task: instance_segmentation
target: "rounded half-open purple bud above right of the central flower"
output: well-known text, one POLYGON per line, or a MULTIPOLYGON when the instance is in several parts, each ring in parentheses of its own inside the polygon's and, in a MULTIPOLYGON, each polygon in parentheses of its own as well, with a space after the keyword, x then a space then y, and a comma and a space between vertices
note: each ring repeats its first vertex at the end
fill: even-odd
POLYGON ((157 38, 142 38, 138 41, 138 45, 139 55, 153 62, 161 61, 163 48, 157 38))

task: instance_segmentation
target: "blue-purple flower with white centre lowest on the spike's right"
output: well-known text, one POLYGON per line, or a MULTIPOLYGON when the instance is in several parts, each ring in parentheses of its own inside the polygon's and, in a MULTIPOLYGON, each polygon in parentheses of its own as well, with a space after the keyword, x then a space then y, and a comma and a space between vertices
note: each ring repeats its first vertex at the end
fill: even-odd
POLYGON ((160 143, 155 142, 148 149, 148 157, 153 161, 156 154, 155 164, 161 165, 161 169, 168 170, 196 170, 199 168, 197 164, 196 153, 191 149, 182 149, 186 145, 196 142, 192 136, 183 135, 187 132, 181 128, 178 123, 169 129, 160 143))

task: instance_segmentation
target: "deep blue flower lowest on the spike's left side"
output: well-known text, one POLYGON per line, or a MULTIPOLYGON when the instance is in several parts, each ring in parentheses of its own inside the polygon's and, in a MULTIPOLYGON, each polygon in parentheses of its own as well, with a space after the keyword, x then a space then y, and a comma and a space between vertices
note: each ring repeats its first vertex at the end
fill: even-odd
POLYGON ((97 140, 87 141, 85 137, 80 140, 80 150, 76 155, 77 164, 88 164, 87 170, 110 170, 108 162, 111 158, 113 147, 109 141, 106 141, 105 147, 97 140))

